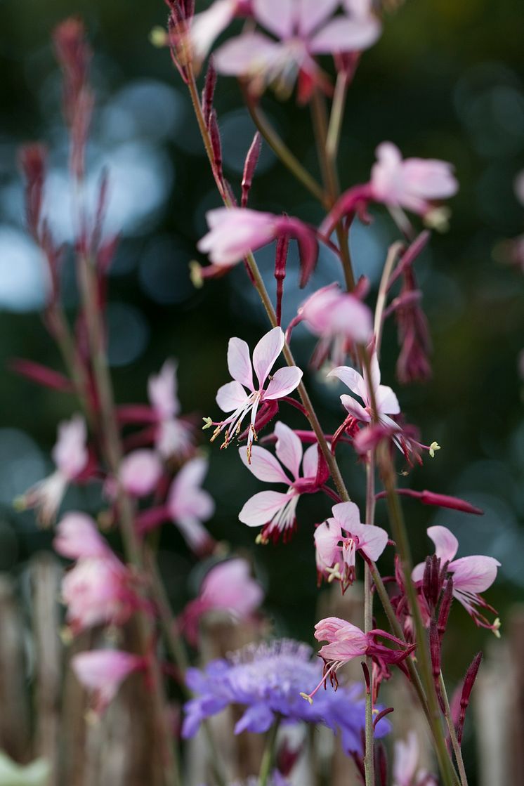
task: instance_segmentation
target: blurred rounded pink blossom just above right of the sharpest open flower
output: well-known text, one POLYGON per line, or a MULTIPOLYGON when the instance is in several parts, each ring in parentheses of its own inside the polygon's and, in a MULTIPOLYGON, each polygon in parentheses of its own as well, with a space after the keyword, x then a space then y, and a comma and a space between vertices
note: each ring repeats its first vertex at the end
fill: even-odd
POLYGON ((321 339, 315 350, 321 362, 330 358, 342 365, 354 343, 367 344, 373 336, 371 310, 338 284, 314 292, 299 308, 299 318, 321 339))

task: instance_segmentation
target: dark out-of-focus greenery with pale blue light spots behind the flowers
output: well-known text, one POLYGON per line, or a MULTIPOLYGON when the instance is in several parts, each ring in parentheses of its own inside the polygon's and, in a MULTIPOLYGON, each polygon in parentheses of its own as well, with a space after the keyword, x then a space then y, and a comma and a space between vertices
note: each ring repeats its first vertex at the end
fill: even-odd
MULTIPOLYGON (((49 533, 38 531, 31 513, 15 513, 12 500, 49 472, 57 422, 74 410, 68 396, 49 393, 9 371, 13 357, 59 364, 39 317, 45 281, 38 252, 24 231, 16 149, 35 139, 49 145, 46 210, 57 237, 70 240, 67 139, 60 116, 60 74, 49 37, 71 13, 86 21, 95 51, 97 110, 88 156, 90 182, 94 187, 102 167, 109 167, 107 226, 122 232, 108 307, 109 356, 119 401, 144 402, 148 374, 172 356, 179 361, 184 411, 218 417, 214 395, 229 379, 229 336, 239 335, 252 347, 267 328, 240 267, 200 290, 189 281, 189 261, 198 259, 196 241, 206 228, 204 213, 219 203, 184 86, 167 51, 148 41, 149 31, 165 22, 161 0, 0 0, 3 570, 20 571, 31 553, 49 545, 49 533)), ((343 187, 365 182, 374 149, 384 139, 394 141, 405 156, 441 158, 456 167, 460 193, 451 202, 450 230, 434 234, 416 265, 434 340, 434 379, 423 387, 405 388, 394 380, 397 343, 389 325, 383 382, 398 392, 423 441, 437 440, 442 446, 433 461, 412 472, 409 484, 464 496, 485 510, 482 518, 474 518, 406 501, 416 556, 427 553, 425 528, 433 523, 453 529, 460 538, 460 555, 496 556, 502 568, 489 601, 503 619, 508 604, 524 596, 524 419, 517 367, 524 331, 522 272, 495 262, 493 247, 524 229, 524 209, 513 191, 515 175, 524 167, 522 40, 519 0, 405 3, 387 15, 382 38, 362 57, 350 90, 340 155, 343 187)), ((293 101, 280 104, 271 94, 263 105, 288 145, 317 174, 307 108, 296 108, 293 101)), ((238 193, 254 128, 235 80, 219 80, 216 106, 225 173, 238 193)), ((251 206, 285 210, 313 222, 322 218, 268 149, 262 153, 251 206)), ((351 244, 357 272, 376 286, 387 245, 398 234, 385 211, 374 211, 374 217, 369 228, 354 226, 351 244)), ((272 253, 261 252, 258 259, 273 292, 272 253)), ((309 289, 338 275, 324 254, 309 289)), ((293 291, 296 281, 294 260, 284 292, 286 319, 303 298, 302 292, 293 291)), ((64 292, 74 310, 74 274, 67 266, 64 292)), ((312 346, 306 332, 296 332, 301 365, 306 365, 312 346)), ((340 391, 324 387, 311 374, 307 383, 326 430, 332 431, 343 417, 340 391)), ((285 410, 283 414, 288 419, 285 410)), ((302 425, 293 412, 289 422, 302 425)), ((277 630, 310 639, 317 598, 311 532, 313 523, 326 515, 327 501, 302 498, 299 533, 291 545, 255 548, 254 531, 241 525, 237 514, 261 484, 240 464, 233 447, 220 452, 214 444, 209 455, 207 488, 217 503, 211 531, 254 553, 277 630)), ((350 493, 363 501, 364 472, 349 451, 343 455, 343 468, 350 493)), ((96 511, 98 489, 71 491, 66 505, 96 511)), ((382 506, 377 520, 385 521, 382 506)), ((163 537, 170 589, 175 599, 184 598, 192 560, 176 534, 163 537)), ((467 627, 471 642, 464 653, 455 652, 449 664, 457 677, 487 634, 478 634, 462 608, 454 609, 453 623, 457 630, 467 627)))

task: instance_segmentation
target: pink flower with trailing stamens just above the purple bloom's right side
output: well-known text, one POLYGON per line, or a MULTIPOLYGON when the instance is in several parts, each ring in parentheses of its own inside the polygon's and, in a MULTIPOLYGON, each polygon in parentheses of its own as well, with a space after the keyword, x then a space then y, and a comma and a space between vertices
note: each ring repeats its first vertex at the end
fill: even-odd
MULTIPOLYGON (((354 658, 369 656, 374 663, 379 664, 379 669, 384 674, 390 664, 401 664, 416 647, 416 645, 406 645, 405 641, 388 634, 385 630, 370 630, 365 634, 356 625, 347 623, 345 619, 339 617, 321 619, 320 623, 315 625, 315 638, 317 641, 327 641, 328 644, 324 644, 318 652, 324 660, 324 677, 311 693, 301 694, 310 703, 313 702, 313 696, 321 685, 325 686, 328 677, 335 687, 338 685, 336 672, 344 663, 354 658), (377 638, 387 638, 399 648, 391 649, 379 644, 377 638)), ((374 700, 375 698, 376 696, 374 700)))

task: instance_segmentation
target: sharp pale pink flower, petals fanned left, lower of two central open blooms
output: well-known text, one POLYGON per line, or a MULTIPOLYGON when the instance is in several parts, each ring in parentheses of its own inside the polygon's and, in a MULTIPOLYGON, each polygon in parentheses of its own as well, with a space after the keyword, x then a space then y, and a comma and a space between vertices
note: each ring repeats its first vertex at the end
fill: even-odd
POLYGON ((311 445, 302 457, 302 443, 299 437, 280 421, 275 426, 277 435, 274 457, 266 448, 254 446, 249 461, 244 448, 240 448, 240 458, 249 471, 264 483, 284 483, 288 490, 260 491, 248 499, 239 513, 239 519, 248 527, 260 527, 262 532, 258 541, 277 541, 283 535, 286 541, 296 526, 295 512, 301 494, 318 489, 318 449, 311 445), (291 474, 284 472, 283 466, 291 474), (302 476, 300 468, 302 465, 302 476))

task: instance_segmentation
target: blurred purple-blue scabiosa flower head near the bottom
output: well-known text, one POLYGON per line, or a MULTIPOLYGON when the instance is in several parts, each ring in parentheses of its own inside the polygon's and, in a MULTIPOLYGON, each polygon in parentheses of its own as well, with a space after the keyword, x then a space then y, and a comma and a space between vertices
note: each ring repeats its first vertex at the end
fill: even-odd
MULTIPOLYGON (((236 723, 236 734, 266 732, 281 717, 284 722, 327 725, 341 734, 346 752, 361 751, 365 702, 360 689, 343 687, 336 693, 326 689, 313 704, 304 701, 301 692, 312 691, 321 678, 321 662, 313 658, 313 650, 291 639, 247 645, 227 659, 208 663, 205 670, 189 669, 186 681, 196 697, 185 704, 182 736, 196 734, 205 718, 229 704, 241 704, 246 709, 236 723)), ((387 722, 379 721, 377 736, 388 729, 387 722)))

